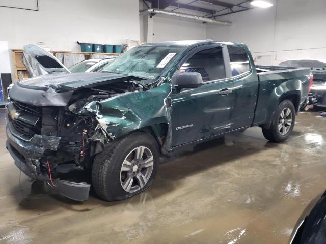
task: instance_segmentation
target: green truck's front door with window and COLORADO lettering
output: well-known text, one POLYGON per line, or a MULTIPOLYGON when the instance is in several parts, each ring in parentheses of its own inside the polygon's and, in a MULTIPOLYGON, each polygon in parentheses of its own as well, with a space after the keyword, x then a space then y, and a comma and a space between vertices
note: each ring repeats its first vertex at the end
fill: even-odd
POLYGON ((188 53, 180 72, 198 72, 203 85, 172 90, 172 146, 213 137, 231 130, 233 79, 225 66, 226 46, 210 44, 188 53))

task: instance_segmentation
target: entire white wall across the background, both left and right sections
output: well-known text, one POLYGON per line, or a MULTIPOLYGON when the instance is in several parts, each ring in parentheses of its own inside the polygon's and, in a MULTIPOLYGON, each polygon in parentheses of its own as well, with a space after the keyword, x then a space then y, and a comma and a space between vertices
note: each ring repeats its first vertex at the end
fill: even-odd
MULTIPOLYGON (((147 25, 137 0, 39 0, 40 11, 0 7, 0 41, 9 48, 44 42, 51 50, 78 51, 76 41, 118 44, 125 39, 152 41, 214 39, 248 44, 259 64, 289 58, 326 58, 326 1, 278 0, 267 9, 221 19, 233 26, 155 15, 147 25), (145 26, 146 25, 146 26, 145 26)), ((36 0, 0 0, 0 5, 36 8, 36 0)), ((144 6, 141 6, 143 9, 144 6)))

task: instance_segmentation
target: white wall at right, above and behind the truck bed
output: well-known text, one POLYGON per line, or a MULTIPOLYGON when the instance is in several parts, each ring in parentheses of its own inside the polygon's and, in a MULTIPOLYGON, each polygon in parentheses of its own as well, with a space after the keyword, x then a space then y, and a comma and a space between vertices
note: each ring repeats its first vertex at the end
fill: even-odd
POLYGON ((294 58, 326 58, 326 1, 278 0, 267 9, 253 9, 223 19, 233 26, 207 24, 206 37, 243 42, 257 64, 277 65, 294 58))

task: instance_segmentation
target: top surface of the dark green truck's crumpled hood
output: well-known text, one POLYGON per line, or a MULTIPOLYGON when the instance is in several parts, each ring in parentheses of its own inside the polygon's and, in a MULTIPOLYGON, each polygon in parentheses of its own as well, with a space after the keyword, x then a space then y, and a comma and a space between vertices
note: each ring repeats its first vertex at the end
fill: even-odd
POLYGON ((94 85, 111 84, 126 80, 131 77, 115 73, 62 73, 53 75, 41 75, 38 77, 26 79, 20 84, 27 86, 49 86, 55 85, 65 90, 87 88, 94 85))

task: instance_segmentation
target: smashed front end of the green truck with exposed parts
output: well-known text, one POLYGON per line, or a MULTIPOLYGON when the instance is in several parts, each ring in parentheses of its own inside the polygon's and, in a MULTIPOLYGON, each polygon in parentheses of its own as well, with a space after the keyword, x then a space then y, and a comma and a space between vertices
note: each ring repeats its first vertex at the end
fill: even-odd
POLYGON ((66 179, 90 170, 94 156, 115 139, 107 131, 99 101, 143 90, 126 77, 69 89, 16 84, 10 89, 6 147, 27 176, 46 181, 62 195, 83 201, 91 184, 66 179))

